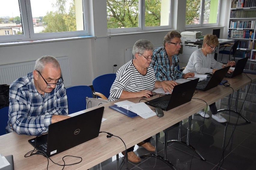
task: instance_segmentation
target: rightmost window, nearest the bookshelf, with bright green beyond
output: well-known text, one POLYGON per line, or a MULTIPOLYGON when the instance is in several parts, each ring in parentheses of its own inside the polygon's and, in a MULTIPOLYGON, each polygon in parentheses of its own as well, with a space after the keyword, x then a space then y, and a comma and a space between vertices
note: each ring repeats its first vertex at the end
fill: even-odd
POLYGON ((186 28, 218 26, 220 0, 187 0, 186 28))

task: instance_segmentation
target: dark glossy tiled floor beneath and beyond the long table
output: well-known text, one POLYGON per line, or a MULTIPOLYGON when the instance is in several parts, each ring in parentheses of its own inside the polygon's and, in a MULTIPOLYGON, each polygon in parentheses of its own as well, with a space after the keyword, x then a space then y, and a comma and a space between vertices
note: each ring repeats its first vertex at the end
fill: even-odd
MULTIPOLYGON (((240 89, 238 101, 238 111, 242 107, 245 98, 246 88, 240 89)), ((234 96, 236 93, 234 93, 234 96)), ((228 97, 228 96, 227 96, 228 97)), ((217 109, 227 108, 227 97, 216 102, 217 109)), ((235 103, 232 100, 231 105, 235 103)), ((232 107, 234 109, 234 107, 232 107)), ((219 123, 211 118, 203 119, 200 115, 192 116, 190 145, 197 148, 206 161, 200 160, 198 155, 187 146, 178 143, 169 143, 167 147, 167 160, 169 160, 178 170, 255 170, 256 169, 256 81, 253 82, 250 91, 243 104, 241 114, 251 121, 250 124, 234 113, 230 114, 230 123, 219 123), (237 122, 237 125, 236 125, 237 122), (225 133, 225 126, 227 130, 225 133), (235 129, 235 130, 234 130, 235 129), (232 130, 234 130, 232 135, 232 130), (202 133, 203 132, 203 133, 202 133), (225 136, 225 147, 223 141, 225 136), (193 156, 194 155, 194 156, 193 156), (224 157, 224 161, 222 160, 224 157)), ((229 120, 229 113, 224 113, 224 117, 229 120)), ((187 119, 183 121, 182 138, 187 141, 187 119)), ((163 132, 160 133, 159 155, 163 156, 163 132)), ((178 139, 178 124, 168 128, 168 140, 178 139)), ((151 139, 154 145, 154 139, 151 139)), ((135 146, 137 155, 149 153, 142 147, 135 146)), ((119 169, 123 160, 123 155, 119 154, 119 160, 115 156, 94 166, 90 170, 114 170, 119 169)), ((149 169, 170 169, 161 160, 153 157, 141 159, 140 163, 128 163, 128 168, 133 170, 149 169)), ((120 169, 125 169, 125 165, 120 169)))

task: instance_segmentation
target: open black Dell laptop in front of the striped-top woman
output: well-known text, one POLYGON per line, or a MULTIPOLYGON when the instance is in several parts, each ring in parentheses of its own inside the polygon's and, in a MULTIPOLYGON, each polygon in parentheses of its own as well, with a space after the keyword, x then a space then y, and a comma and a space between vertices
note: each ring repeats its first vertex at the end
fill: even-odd
POLYGON ((145 103, 150 106, 159 107, 165 111, 178 107, 192 99, 198 81, 199 78, 178 84, 174 86, 172 94, 164 95, 159 98, 146 101, 145 103))

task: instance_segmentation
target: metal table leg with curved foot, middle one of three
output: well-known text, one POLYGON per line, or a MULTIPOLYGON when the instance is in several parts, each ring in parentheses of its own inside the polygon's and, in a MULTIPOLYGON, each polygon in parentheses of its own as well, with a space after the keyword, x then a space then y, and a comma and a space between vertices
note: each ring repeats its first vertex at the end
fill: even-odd
POLYGON ((192 116, 189 116, 188 117, 188 126, 187 126, 187 142, 181 141, 181 129, 182 129, 182 121, 181 121, 180 125, 179 125, 179 137, 178 137, 178 140, 169 140, 169 141, 167 141, 167 143, 180 143, 180 144, 183 144, 183 145, 189 147, 192 151, 194 151, 200 157, 201 160, 206 161, 206 159, 203 158, 203 156, 197 151, 197 149, 189 144, 191 120, 192 120, 192 116))

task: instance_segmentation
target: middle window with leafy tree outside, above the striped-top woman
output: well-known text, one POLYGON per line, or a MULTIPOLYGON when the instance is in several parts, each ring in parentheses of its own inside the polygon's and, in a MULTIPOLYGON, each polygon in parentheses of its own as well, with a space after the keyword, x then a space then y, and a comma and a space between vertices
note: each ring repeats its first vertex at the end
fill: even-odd
POLYGON ((108 32, 171 28, 171 0, 107 0, 108 32))

